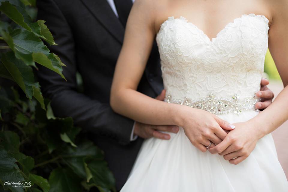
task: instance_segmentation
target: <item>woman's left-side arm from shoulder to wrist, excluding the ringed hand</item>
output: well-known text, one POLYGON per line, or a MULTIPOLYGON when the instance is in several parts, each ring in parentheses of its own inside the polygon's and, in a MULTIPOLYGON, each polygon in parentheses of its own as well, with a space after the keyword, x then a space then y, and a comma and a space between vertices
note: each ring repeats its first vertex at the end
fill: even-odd
POLYGON ((155 10, 146 1, 136 1, 131 9, 115 68, 110 104, 117 113, 141 123, 177 125, 176 104, 136 91, 155 38, 154 14, 155 10))

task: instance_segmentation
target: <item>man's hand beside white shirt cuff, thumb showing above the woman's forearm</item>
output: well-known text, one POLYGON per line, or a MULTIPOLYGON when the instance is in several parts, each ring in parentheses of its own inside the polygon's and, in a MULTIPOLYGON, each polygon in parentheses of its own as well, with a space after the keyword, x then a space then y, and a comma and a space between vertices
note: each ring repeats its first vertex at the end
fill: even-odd
MULTIPOLYGON (((165 89, 163 89, 161 94, 158 95, 155 99, 164 101, 165 94, 166 94, 166 91, 165 89)), ((151 137, 164 139, 164 140, 170 139, 169 134, 161 133, 160 131, 178 133, 179 127, 176 125, 147 125, 147 124, 136 122, 134 134, 144 139, 148 139, 151 137)))

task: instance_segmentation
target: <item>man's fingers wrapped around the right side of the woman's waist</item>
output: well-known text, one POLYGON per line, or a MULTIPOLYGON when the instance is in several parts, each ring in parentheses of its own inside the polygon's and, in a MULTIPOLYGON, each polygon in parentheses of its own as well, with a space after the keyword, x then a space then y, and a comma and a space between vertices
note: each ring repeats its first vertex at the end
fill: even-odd
POLYGON ((272 99, 274 98, 274 93, 267 87, 269 84, 268 79, 262 78, 261 79, 261 89, 257 92, 257 97, 261 98, 262 102, 258 102, 255 104, 257 109, 264 110, 272 103, 272 99))

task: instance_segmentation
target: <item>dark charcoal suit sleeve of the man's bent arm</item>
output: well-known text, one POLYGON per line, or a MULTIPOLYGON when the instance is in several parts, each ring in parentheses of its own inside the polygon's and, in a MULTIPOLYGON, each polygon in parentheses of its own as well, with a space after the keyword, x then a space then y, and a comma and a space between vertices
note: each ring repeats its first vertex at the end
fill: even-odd
POLYGON ((51 99, 54 114, 58 117, 70 116, 76 126, 95 134, 112 137, 120 144, 128 144, 134 121, 114 113, 109 104, 77 92, 76 69, 80 64, 76 63, 75 59, 73 33, 61 10, 53 0, 37 1, 37 7, 38 19, 46 21, 45 24, 58 44, 48 48, 67 65, 63 67, 63 75, 67 82, 57 73, 38 66, 37 76, 41 90, 45 97, 51 99))

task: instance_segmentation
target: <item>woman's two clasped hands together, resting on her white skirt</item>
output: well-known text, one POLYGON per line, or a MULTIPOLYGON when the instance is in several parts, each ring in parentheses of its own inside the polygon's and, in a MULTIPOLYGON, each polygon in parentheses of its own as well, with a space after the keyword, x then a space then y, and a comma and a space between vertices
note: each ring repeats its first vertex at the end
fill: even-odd
POLYGON ((250 121, 229 124, 207 111, 180 107, 178 125, 183 127, 193 146, 202 152, 223 155, 231 164, 244 161, 264 136, 250 121))

